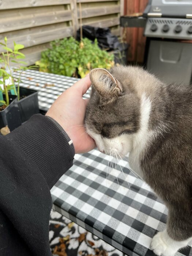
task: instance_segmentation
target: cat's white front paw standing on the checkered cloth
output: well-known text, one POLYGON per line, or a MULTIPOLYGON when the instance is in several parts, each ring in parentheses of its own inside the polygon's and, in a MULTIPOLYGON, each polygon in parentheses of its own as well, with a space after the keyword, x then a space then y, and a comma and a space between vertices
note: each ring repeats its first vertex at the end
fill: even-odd
POLYGON ((165 231, 158 232, 151 242, 151 249, 160 256, 174 256, 177 251, 173 250, 165 240, 165 231))

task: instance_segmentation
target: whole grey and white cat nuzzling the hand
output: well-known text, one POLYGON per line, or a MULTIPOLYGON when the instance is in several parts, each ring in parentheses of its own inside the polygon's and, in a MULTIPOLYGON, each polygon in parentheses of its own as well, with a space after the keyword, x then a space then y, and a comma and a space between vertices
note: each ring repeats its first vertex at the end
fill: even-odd
POLYGON ((164 84, 139 67, 90 72, 88 134, 103 153, 124 157, 169 210, 151 248, 173 256, 192 239, 192 86, 164 84))

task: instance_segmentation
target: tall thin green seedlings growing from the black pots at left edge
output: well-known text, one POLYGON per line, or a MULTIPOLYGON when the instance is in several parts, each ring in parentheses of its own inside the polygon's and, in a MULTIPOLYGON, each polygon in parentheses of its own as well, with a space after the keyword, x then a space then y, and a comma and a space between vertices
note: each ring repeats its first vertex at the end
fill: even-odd
POLYGON ((24 67, 23 64, 27 64, 25 61, 21 59, 25 59, 25 54, 19 52, 20 49, 24 48, 22 44, 16 44, 14 42, 14 49, 12 50, 7 46, 7 37, 4 38, 4 42, 0 45, 3 46, 3 49, 6 51, 2 52, 3 58, 0 57, 0 106, 9 105, 9 95, 10 92, 12 95, 17 95, 18 100, 20 99, 19 95, 19 84, 20 84, 20 76, 22 72, 26 69, 33 69, 36 66, 24 67), (13 75, 13 69, 11 68, 11 63, 16 63, 18 68, 14 68, 14 70, 19 71, 19 78, 15 78, 13 75), (17 90, 16 90, 16 84, 17 90), (2 87, 1 87, 2 86, 2 87), (5 94, 5 101, 3 98, 3 94, 5 94))

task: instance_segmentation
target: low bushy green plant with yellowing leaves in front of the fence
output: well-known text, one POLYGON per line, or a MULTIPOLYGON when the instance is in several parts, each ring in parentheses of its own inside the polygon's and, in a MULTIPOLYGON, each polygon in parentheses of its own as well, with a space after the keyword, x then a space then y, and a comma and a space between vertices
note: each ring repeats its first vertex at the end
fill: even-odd
POLYGON ((35 64, 39 71, 65 76, 75 76, 76 71, 83 78, 93 68, 110 68, 114 56, 101 50, 97 40, 92 43, 83 38, 81 42, 73 37, 52 42, 51 48, 41 53, 41 60, 35 64))

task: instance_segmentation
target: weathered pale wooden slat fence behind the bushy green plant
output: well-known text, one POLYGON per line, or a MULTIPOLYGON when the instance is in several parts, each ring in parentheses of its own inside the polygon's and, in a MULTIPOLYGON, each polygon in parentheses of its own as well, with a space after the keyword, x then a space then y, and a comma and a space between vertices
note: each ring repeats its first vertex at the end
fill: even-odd
MULTIPOLYGON (((82 25, 110 27, 120 35, 123 0, 0 0, 0 42, 7 36, 25 45, 27 65, 40 59, 41 51, 55 39, 75 36, 82 25)), ((0 52, 3 49, 0 47, 0 52)))

